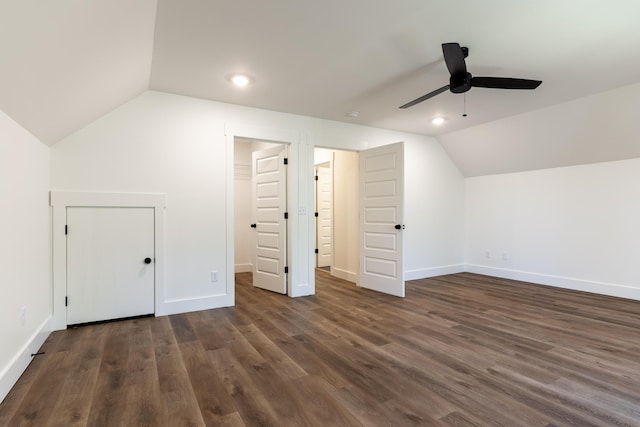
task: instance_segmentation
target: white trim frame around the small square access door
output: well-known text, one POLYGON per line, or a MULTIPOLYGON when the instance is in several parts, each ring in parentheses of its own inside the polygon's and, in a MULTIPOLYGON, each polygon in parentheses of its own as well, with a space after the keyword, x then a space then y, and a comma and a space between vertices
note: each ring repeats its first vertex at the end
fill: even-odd
POLYGON ((165 309, 165 248, 164 221, 167 206, 165 194, 154 193, 99 193, 51 191, 51 236, 52 236, 52 278, 53 314, 51 328, 67 328, 67 239, 65 225, 68 207, 114 207, 153 208, 154 211, 154 251, 155 251, 155 315, 168 314, 165 309))

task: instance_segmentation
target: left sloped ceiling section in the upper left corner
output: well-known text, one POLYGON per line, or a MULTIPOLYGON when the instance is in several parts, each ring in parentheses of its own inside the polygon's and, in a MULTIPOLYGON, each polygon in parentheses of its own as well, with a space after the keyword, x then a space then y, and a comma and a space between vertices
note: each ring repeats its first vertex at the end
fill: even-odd
POLYGON ((149 88, 155 0, 0 1, 0 109, 54 144, 149 88))

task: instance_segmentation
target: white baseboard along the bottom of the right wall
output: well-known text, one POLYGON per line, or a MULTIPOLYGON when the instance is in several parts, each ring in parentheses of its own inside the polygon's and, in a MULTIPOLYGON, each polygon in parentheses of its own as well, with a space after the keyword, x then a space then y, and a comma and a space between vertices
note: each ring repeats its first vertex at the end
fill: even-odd
POLYGON ((571 277, 553 276, 475 264, 467 264, 466 271, 470 273, 484 274, 486 276, 521 280, 523 282, 537 283, 540 285, 555 286, 557 288, 573 289, 576 291, 591 292, 640 301, 640 287, 634 288, 615 283, 595 282, 590 280, 574 279, 571 277))

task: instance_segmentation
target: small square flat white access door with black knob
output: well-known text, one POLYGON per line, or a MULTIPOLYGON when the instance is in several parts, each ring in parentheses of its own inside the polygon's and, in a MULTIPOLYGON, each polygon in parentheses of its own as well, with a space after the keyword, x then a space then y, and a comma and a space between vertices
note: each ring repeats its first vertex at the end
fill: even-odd
POLYGON ((67 324, 153 314, 154 265, 153 208, 68 207, 67 324))

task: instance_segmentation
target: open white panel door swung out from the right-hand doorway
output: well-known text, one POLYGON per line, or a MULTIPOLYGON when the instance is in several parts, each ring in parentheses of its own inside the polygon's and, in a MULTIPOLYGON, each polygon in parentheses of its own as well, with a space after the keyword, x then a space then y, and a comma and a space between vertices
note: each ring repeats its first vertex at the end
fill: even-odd
POLYGON ((404 297, 404 145, 360 152, 360 286, 404 297))

